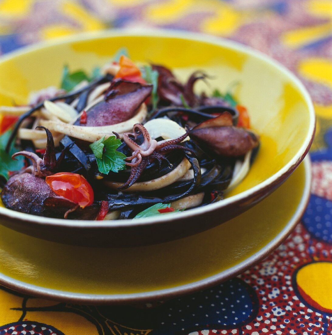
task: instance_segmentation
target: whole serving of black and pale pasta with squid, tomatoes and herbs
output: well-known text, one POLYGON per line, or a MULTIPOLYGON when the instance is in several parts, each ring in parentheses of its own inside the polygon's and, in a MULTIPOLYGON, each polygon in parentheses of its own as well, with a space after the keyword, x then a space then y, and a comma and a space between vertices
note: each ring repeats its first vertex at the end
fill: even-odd
POLYGON ((3 204, 103 220, 221 201, 248 172, 259 137, 231 92, 194 92, 207 79, 197 71, 183 84, 168 68, 122 55, 93 76, 66 67, 60 89, 0 107, 2 122, 16 121, 0 141, 3 204))

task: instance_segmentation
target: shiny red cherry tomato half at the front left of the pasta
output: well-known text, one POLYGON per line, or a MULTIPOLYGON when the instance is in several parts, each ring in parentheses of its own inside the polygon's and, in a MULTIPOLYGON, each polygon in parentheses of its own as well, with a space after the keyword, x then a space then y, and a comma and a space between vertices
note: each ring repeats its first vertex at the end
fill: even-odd
POLYGON ((94 194, 91 185, 77 173, 59 172, 47 176, 46 183, 54 193, 78 204, 81 208, 93 203, 94 194))

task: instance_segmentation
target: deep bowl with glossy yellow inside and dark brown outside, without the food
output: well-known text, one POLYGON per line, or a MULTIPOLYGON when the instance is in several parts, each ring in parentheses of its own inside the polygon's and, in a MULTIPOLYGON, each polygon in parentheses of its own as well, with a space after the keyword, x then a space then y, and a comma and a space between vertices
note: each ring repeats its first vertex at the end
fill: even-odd
POLYGON ((285 67, 237 43, 174 31, 105 31, 40 44, 0 60, 0 104, 26 102, 30 91, 58 86, 62 68, 90 71, 121 47, 134 61, 163 64, 182 78, 197 69, 213 75, 210 87, 234 82, 261 137, 259 153, 243 182, 215 204, 136 220, 70 221, 0 208, 1 223, 47 240, 91 246, 154 244, 206 230, 244 212, 279 187, 307 154, 315 131, 314 109, 302 83, 285 67))

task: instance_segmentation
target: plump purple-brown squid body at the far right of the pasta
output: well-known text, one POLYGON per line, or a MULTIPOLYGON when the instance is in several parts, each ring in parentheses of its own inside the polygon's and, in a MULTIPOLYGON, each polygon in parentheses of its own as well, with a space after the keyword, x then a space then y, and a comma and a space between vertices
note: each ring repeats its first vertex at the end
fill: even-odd
POLYGON ((194 140, 223 156, 243 156, 259 143, 258 135, 238 127, 209 127, 194 129, 194 140))

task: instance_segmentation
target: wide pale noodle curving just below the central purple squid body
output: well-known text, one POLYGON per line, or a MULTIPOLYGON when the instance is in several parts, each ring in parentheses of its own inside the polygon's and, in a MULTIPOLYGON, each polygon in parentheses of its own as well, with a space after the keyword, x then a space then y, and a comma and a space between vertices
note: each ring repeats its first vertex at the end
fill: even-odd
POLYGON ((103 136, 105 136, 106 138, 108 138, 109 136, 114 136, 112 133, 113 131, 118 133, 120 137, 122 137, 123 133, 132 130, 134 124, 141 123, 145 119, 146 113, 146 105, 142 104, 136 114, 131 119, 114 125, 101 127, 83 127, 64 122, 47 120, 41 123, 42 126, 48 128, 50 131, 56 131, 68 136, 78 138, 83 141, 95 142, 101 139, 103 136))

